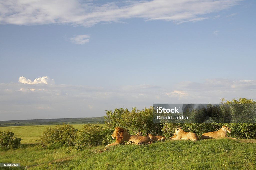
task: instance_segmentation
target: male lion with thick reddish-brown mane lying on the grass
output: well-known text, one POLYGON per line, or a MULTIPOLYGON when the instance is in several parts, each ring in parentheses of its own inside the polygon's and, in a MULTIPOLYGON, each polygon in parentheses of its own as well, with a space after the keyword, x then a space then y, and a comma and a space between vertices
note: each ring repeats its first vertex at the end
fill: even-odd
POLYGON ((112 138, 115 139, 114 143, 108 144, 105 147, 108 146, 115 146, 118 144, 122 144, 125 141, 131 141, 134 144, 151 144, 152 141, 148 137, 145 136, 136 136, 136 135, 131 135, 127 133, 127 131, 121 127, 116 127, 115 131, 112 133, 112 138))

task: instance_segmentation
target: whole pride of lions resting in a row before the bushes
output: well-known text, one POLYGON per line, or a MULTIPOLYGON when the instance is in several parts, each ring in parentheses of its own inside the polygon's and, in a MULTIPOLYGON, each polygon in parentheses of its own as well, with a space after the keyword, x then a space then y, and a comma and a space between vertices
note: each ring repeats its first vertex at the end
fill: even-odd
MULTIPOLYGON (((227 126, 222 126, 220 130, 215 132, 208 132, 203 133, 201 135, 201 139, 221 139, 221 138, 228 138, 228 139, 236 139, 230 138, 227 136, 227 132, 231 133, 231 129, 227 126)), ((124 142, 131 142, 133 144, 151 144, 154 141, 164 141, 166 137, 163 136, 154 136, 150 133, 147 133, 146 136, 142 135, 142 132, 137 132, 136 135, 131 135, 127 133, 124 128, 116 127, 114 132, 112 133, 112 138, 116 141, 114 143, 108 144, 108 146, 115 146, 118 144, 123 144, 124 142)), ((170 140, 191 140, 193 142, 197 141, 199 138, 197 134, 191 132, 185 132, 182 128, 175 128, 174 136, 170 138, 170 140)))

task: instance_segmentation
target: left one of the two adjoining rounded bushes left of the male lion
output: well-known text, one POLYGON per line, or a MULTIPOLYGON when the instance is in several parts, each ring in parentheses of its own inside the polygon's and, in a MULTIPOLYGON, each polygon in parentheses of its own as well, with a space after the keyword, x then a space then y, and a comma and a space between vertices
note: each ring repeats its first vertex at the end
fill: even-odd
POLYGON ((55 128, 48 127, 41 135, 41 144, 43 146, 50 146, 54 143, 61 143, 65 147, 74 146, 77 131, 70 124, 64 123, 55 128))

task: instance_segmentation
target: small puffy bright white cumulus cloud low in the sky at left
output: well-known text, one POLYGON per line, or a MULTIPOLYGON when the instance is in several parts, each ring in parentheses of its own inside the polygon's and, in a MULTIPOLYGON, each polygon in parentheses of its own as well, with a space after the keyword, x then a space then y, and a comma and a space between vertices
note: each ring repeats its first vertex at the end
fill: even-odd
MULTIPOLYGON (((38 77, 33 82, 27 79, 26 77, 21 76, 19 77, 19 82, 23 84, 47 84, 47 85, 55 84, 54 80, 50 79, 50 77, 48 76, 38 77)), ((30 90, 33 91, 33 89, 30 89, 30 90)))

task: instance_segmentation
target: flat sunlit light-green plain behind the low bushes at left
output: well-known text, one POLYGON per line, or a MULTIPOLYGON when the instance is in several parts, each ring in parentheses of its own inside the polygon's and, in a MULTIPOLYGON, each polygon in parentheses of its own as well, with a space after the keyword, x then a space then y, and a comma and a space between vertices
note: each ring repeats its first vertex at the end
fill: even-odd
MULTIPOLYGON (((104 124, 98 124, 104 126, 104 124)), ((9 130, 14 133, 18 138, 22 138, 21 143, 37 143, 39 137, 46 130, 47 127, 56 127, 57 125, 34 125, 34 126, 7 126, 0 127, 0 131, 9 130)), ((80 129, 83 124, 72 124, 76 129, 80 129)))

